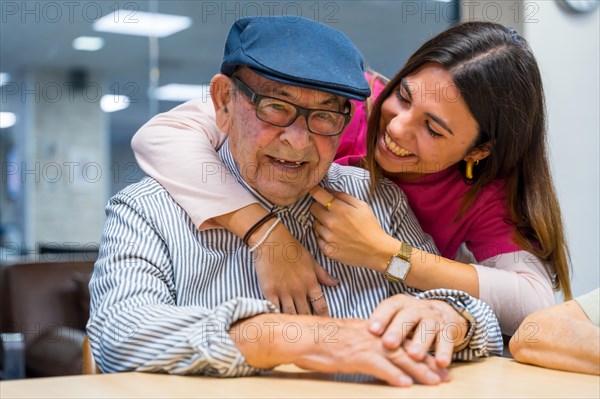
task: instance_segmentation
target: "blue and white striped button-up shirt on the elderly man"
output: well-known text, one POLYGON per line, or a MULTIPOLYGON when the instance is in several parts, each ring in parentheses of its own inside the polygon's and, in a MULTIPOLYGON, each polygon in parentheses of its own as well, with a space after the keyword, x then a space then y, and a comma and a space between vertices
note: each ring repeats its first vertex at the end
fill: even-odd
MULTIPOLYGON (((262 205, 274 209, 325 270, 340 280, 335 287, 321 287, 333 317, 368 318, 382 300, 398 293, 419 298, 453 296, 477 321, 469 345, 455 358, 502 353, 498 322, 484 302, 455 290, 420 292, 391 283, 370 269, 327 258, 311 227, 310 195, 291 206, 274 206, 241 179, 227 142, 219 154, 233 174, 224 178, 238 179, 262 205)), ((396 185, 382 181, 369 200, 369 179, 362 169, 333 164, 320 185, 370 202, 388 234, 437 253, 396 185)), ((151 178, 115 195, 106 213, 90 281, 87 325, 100 369, 219 376, 258 372, 245 362, 227 331, 238 320, 277 310, 264 299, 253 254, 241 239, 224 229, 198 231, 151 178)))

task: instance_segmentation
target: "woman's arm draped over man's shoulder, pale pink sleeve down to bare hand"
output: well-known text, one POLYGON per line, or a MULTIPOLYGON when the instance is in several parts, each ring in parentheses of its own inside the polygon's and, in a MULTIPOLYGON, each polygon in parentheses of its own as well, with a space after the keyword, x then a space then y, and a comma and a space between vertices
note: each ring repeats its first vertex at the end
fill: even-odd
MULTIPOLYGON (((157 115, 138 130, 131 146, 144 172, 156 179, 199 228, 218 224, 242 238, 268 211, 246 191, 221 162, 216 149, 226 136, 215 122, 212 102, 188 101, 157 115)), ((248 240, 255 245, 270 223, 257 229, 248 240)), ((328 315, 319 282, 337 281, 315 262, 312 255, 283 226, 269 235, 270 251, 256 257, 261 290, 268 300, 286 313, 328 315), (290 260, 283 248, 294 245, 300 256, 290 260), (310 302, 308 298, 320 300, 310 302)))

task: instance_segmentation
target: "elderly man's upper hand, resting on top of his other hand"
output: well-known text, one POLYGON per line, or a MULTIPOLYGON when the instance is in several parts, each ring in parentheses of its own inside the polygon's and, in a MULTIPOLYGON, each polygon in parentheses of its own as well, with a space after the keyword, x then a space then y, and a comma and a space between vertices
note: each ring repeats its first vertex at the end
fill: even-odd
POLYGON ((440 367, 450 365, 455 344, 468 330, 469 323, 450 304, 403 294, 381 302, 369 318, 369 331, 381 336, 386 348, 402 346, 417 361, 433 350, 440 367))

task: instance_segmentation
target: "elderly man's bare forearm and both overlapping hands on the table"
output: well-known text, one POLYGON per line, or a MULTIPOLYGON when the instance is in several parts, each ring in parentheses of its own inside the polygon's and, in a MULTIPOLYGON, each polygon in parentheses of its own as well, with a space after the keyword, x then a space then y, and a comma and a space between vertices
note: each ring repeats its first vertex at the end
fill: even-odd
POLYGON ((248 363, 259 368, 294 363, 319 372, 368 374, 394 386, 415 381, 437 385, 450 379, 447 367, 454 343, 466 333, 461 319, 446 302, 401 294, 383 301, 369 320, 259 315, 241 324, 256 326, 263 320, 275 326, 261 335, 269 337, 263 342, 267 347, 244 341, 238 345, 248 363), (287 322, 302 329, 300 340, 277 339, 277 329, 283 330, 287 322))

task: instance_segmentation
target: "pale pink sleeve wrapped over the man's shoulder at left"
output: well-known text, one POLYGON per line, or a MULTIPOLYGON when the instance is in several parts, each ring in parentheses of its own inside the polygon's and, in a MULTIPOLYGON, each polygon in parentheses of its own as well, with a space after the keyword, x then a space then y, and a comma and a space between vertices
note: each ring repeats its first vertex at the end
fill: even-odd
POLYGON ((142 170, 205 229, 214 226, 211 218, 256 202, 215 151, 225 138, 212 102, 192 100, 152 118, 133 136, 131 148, 142 170))

